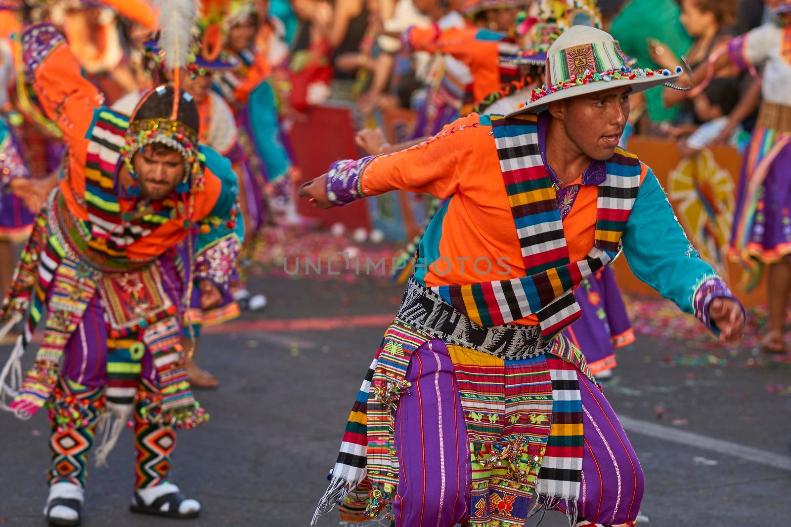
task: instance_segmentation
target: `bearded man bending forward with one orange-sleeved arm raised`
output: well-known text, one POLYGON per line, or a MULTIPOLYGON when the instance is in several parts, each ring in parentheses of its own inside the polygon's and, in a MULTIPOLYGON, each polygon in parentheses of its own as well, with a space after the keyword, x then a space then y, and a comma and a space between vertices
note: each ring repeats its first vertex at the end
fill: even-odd
POLYGON ((4 300, 4 319, 30 314, 3 370, 12 372, 10 386, 0 378, 0 403, 6 395, 13 401, 0 406, 21 419, 49 408, 44 512, 52 525, 80 524, 87 454, 103 416, 110 420, 98 462, 134 419, 132 510, 194 517, 199 503, 169 480, 175 428, 208 418, 184 371, 180 275, 193 265, 187 295, 199 288, 203 307, 220 303, 243 232, 236 176, 228 160, 199 145, 187 93, 152 89, 130 119, 102 106, 51 24, 27 28, 22 43, 28 81, 68 155, 4 300), (176 253, 184 239, 194 262, 176 253), (13 371, 44 307, 44 339, 23 382, 13 371))

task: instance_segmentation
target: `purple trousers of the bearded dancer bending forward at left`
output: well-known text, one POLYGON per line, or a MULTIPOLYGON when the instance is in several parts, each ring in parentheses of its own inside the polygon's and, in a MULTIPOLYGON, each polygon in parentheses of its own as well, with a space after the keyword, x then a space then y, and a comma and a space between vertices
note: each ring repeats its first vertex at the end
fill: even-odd
MULTIPOLYGON (((184 284, 176 270, 176 265, 168 257, 159 259, 162 273, 162 288, 177 307, 181 307, 181 295, 184 284)), ((47 295, 47 301, 49 295, 47 295)), ((179 314, 179 320, 181 315, 179 314)), ((93 296, 80 325, 72 334, 63 350, 62 375, 74 382, 89 388, 98 388, 107 384, 107 338, 108 328, 104 322, 104 306, 99 292, 93 296)), ((141 377, 149 381, 156 380, 156 368, 153 367, 151 354, 144 353, 140 361, 141 377)))

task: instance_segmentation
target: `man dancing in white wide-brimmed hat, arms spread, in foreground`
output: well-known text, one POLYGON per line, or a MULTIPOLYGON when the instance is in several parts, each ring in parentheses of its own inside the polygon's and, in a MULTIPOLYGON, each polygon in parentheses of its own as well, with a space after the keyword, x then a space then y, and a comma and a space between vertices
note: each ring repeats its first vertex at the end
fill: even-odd
POLYGON ((653 172, 617 147, 630 93, 678 73, 630 68, 606 32, 573 26, 547 52, 546 77, 505 118, 470 115, 403 152, 339 161, 301 189, 324 208, 395 189, 449 198, 316 518, 343 501, 342 518, 381 513, 399 527, 517 527, 533 501, 571 525, 634 525, 639 462, 560 334, 581 313, 573 288, 623 249, 638 277, 740 339, 741 304, 698 258, 653 172))

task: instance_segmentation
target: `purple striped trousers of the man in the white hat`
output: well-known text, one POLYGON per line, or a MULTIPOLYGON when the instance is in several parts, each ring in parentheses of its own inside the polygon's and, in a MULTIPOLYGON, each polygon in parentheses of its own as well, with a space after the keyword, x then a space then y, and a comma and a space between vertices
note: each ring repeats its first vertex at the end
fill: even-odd
MULTIPOLYGON (((577 525, 634 525, 644 490, 637 455, 604 394, 579 378, 585 448, 577 525)), ((445 343, 414 352, 407 370, 411 393, 395 414, 400 479, 395 527, 451 527, 470 516, 470 448, 453 363, 445 343)), ((511 514, 527 518, 528 507, 511 514)), ((562 510, 562 506, 558 506, 562 510)))

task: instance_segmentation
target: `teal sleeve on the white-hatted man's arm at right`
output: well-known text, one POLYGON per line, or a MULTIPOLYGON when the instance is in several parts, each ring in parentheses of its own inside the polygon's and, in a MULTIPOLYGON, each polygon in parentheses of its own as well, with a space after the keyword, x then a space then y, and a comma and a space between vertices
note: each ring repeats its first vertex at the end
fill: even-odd
POLYGON ((649 169, 623 231, 623 254, 635 277, 694 313, 692 297, 702 281, 717 277, 692 247, 672 205, 649 169))

